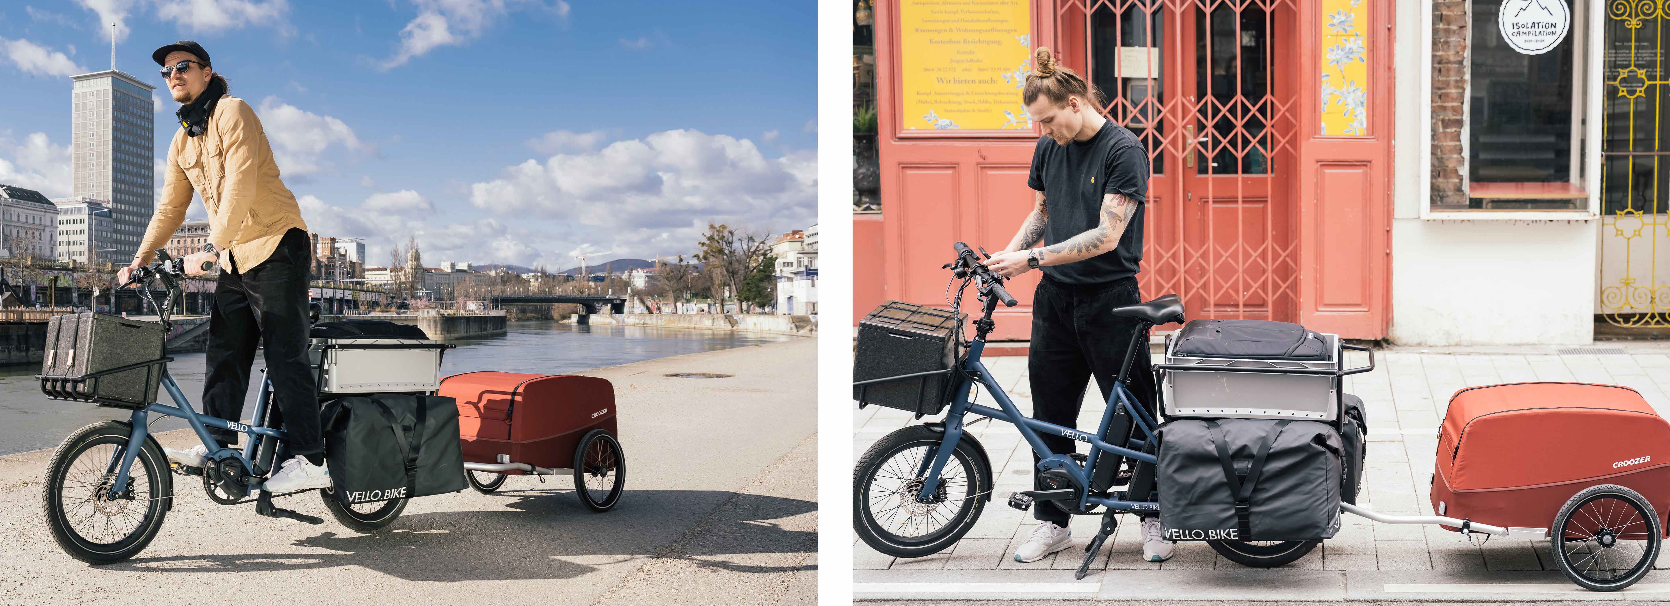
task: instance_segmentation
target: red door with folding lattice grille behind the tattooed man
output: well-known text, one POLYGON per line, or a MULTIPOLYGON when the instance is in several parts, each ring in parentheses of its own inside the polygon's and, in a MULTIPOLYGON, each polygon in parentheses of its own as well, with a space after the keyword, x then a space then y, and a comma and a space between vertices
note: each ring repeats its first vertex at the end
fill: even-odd
POLYGON ((1294 3, 1064 0, 1054 18, 1057 52, 1082 52, 1102 114, 1149 150, 1144 297, 1296 321, 1294 3))

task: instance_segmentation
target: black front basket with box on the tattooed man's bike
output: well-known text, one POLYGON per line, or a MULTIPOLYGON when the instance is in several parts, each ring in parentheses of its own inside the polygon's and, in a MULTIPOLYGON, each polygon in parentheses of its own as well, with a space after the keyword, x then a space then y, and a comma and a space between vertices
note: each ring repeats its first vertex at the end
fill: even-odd
MULTIPOLYGON (((955 327, 962 314, 950 309, 888 300, 858 321, 852 382, 950 369, 957 362, 955 327)), ((952 389, 950 374, 852 386, 858 407, 939 414, 952 389)))

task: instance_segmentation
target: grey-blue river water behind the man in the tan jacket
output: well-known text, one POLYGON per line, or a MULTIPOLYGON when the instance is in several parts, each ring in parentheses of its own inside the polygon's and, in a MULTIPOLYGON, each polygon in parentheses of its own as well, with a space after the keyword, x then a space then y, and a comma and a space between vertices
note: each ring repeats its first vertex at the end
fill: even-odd
MULTIPOLYGON (((509 331, 504 336, 449 341, 458 349, 448 351, 443 357, 441 376, 474 371, 563 374, 788 339, 798 337, 518 321, 509 322, 509 331)), ((257 352, 242 421, 249 421, 247 416, 254 409, 261 369, 264 367, 266 362, 257 352)), ((129 417, 129 411, 47 399, 40 394, 40 382, 35 381, 37 372, 40 372, 37 366, 0 367, 0 456, 55 447, 82 426, 129 417)), ((174 354, 169 372, 200 412, 204 354, 174 354)), ((159 389, 157 397, 172 404, 167 391, 159 389)), ((152 431, 185 427, 184 419, 154 416, 154 421, 152 431)))

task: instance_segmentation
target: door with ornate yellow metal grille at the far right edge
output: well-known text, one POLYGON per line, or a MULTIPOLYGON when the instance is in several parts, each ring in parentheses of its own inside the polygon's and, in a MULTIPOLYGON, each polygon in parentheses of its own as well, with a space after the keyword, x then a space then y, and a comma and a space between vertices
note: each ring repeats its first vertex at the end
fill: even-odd
POLYGON ((1615 326, 1670 326, 1667 12, 1658 0, 1607 10, 1598 311, 1615 326))

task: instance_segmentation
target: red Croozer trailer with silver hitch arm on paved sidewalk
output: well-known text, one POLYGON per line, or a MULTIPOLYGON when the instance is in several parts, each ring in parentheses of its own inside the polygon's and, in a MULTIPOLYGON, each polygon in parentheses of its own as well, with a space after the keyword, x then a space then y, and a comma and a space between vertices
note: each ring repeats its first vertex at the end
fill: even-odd
MULTIPOLYGON (((1617 591, 1652 571, 1670 514, 1670 422, 1642 394, 1583 382, 1458 391, 1438 429, 1436 516, 1346 513, 1391 524, 1548 539, 1560 571, 1617 591)), ((1486 536, 1486 539, 1488 539, 1486 536)))

